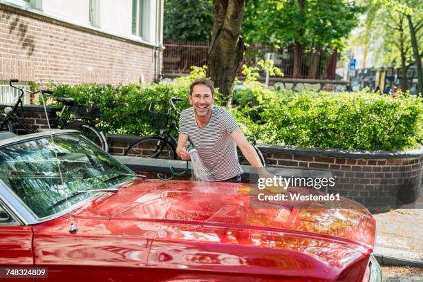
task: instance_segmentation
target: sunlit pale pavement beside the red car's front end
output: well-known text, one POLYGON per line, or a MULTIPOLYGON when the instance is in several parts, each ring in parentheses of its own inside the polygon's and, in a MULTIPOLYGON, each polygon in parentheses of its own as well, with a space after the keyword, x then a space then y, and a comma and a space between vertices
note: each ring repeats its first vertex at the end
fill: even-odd
MULTIPOLYGON (((374 214, 376 219, 375 254, 391 257, 388 264, 411 265, 415 261, 423 265, 423 187, 415 203, 401 209, 374 214), (404 260, 401 262, 400 260, 404 260)), ((411 265, 417 266, 417 265, 411 265)))

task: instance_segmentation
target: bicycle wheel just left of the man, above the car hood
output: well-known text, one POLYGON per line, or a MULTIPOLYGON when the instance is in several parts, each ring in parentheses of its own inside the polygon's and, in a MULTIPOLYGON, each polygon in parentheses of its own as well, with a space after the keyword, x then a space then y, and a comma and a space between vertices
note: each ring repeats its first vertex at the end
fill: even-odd
POLYGON ((125 156, 176 160, 176 149, 171 142, 162 137, 147 136, 126 149, 125 156))

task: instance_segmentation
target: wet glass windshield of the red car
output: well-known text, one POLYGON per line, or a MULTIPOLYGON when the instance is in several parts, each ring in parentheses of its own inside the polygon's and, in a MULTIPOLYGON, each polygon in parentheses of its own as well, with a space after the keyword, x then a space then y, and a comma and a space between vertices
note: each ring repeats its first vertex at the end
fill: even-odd
POLYGON ((132 178, 122 175, 131 169, 82 135, 53 138, 54 144, 48 136, 0 148, 1 180, 39 218, 95 196, 77 191, 107 189, 132 178))

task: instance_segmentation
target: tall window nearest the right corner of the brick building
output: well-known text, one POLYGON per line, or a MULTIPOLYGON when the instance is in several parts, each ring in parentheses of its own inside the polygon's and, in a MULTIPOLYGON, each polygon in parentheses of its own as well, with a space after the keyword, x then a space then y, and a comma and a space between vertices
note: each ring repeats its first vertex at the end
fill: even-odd
POLYGON ((132 0, 132 34, 150 41, 151 0, 132 0))

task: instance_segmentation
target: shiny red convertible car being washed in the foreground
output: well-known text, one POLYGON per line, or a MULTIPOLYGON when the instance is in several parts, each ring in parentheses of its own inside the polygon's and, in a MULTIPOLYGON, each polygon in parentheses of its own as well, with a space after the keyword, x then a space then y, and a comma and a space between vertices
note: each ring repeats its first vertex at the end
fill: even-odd
POLYGON ((364 207, 252 209, 248 184, 203 188, 135 175, 78 131, 0 133, 1 275, 44 267, 37 281, 381 281, 364 207))

